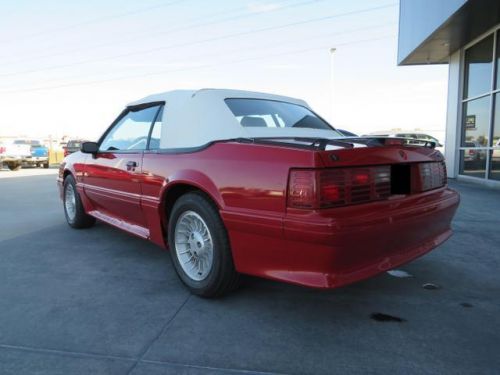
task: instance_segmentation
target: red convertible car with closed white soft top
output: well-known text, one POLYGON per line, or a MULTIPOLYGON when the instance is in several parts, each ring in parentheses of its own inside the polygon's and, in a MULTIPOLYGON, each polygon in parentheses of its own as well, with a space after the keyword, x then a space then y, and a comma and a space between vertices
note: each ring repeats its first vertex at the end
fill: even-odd
POLYGON ((333 288, 443 243, 459 203, 433 142, 344 137, 302 100, 172 91, 131 103, 58 177, 68 224, 170 249, 195 294, 240 274, 333 288))

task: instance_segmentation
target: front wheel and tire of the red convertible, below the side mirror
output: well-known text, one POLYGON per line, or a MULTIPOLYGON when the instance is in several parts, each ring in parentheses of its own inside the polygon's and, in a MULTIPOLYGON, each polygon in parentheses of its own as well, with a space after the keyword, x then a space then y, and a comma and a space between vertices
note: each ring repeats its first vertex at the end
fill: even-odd
POLYGON ((76 190, 75 179, 71 175, 64 179, 63 206, 64 216, 70 227, 82 229, 95 224, 95 218, 87 215, 83 209, 80 194, 76 190))

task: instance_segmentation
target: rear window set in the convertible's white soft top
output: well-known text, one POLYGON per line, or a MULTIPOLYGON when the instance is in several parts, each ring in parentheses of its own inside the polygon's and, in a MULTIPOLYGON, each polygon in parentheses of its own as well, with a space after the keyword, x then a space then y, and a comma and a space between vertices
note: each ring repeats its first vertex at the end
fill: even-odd
POLYGON ((340 134, 326 121, 306 107, 266 99, 232 98, 225 100, 241 126, 260 128, 308 128, 331 130, 340 134))

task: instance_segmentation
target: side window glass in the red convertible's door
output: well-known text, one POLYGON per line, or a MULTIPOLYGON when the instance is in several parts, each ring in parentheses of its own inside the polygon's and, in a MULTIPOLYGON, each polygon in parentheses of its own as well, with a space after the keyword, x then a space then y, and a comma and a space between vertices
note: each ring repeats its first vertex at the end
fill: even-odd
POLYGON ((101 151, 145 150, 159 106, 127 112, 101 142, 101 151))

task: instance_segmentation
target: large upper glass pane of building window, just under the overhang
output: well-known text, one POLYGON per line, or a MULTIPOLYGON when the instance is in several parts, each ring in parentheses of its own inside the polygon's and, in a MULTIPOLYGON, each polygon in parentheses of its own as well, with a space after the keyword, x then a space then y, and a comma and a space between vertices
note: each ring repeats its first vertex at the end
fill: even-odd
POLYGON ((491 91, 492 60, 493 35, 465 51, 465 98, 491 91))

